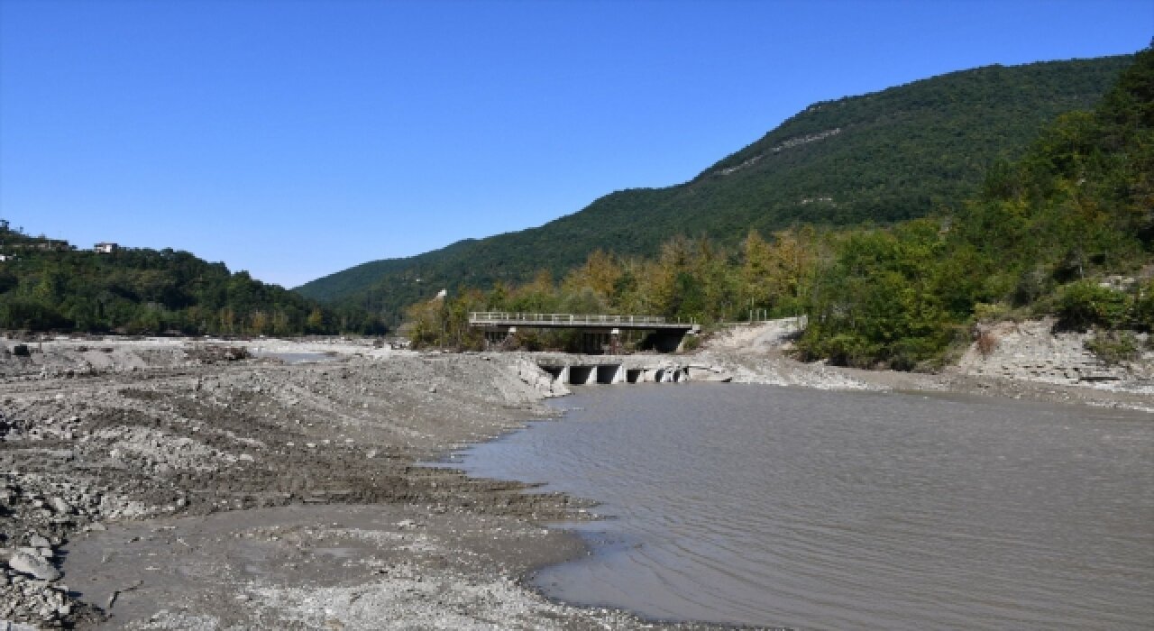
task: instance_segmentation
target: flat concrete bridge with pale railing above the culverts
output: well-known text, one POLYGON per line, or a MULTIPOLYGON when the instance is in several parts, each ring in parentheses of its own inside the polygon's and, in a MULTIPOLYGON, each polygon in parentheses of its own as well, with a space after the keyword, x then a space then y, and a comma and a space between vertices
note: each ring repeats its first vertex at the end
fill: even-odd
POLYGON ((585 335, 586 348, 617 348, 623 330, 651 331, 653 347, 672 353, 681 347, 685 335, 697 333, 695 322, 670 322, 660 316, 519 314, 509 311, 471 311, 469 325, 482 329, 490 341, 502 341, 518 329, 575 329, 585 335))

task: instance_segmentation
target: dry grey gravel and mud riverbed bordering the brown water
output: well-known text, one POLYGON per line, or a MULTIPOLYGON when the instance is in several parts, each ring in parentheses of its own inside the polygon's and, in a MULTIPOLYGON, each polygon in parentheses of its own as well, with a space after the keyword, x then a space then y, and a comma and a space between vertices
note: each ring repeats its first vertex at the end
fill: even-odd
MULTIPOLYGON (((682 359, 816 388, 1154 393, 1140 369, 1089 388, 986 374, 988 358, 943 375, 799 365, 788 333, 735 330, 682 359)), ((548 601, 524 579, 583 549, 542 525, 592 506, 419 466, 554 415, 548 381, 529 355, 369 340, 0 339, 0 629, 704 628, 548 601)))

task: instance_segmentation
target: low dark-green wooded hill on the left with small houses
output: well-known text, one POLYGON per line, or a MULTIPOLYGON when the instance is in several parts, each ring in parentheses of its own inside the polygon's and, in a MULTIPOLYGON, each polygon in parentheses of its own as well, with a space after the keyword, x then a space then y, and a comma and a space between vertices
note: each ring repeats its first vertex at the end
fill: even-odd
POLYGON ((321 306, 187 251, 80 250, 0 219, 0 329, 185 335, 383 332, 364 310, 321 306))

